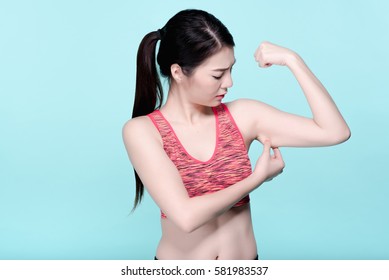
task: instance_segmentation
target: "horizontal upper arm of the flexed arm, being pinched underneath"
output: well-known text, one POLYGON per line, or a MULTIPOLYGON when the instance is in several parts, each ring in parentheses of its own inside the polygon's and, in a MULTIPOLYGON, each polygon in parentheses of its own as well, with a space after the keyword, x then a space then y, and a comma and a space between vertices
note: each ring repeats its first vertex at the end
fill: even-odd
POLYGON ((283 112, 256 100, 241 99, 230 106, 251 140, 263 143, 269 139, 273 147, 314 147, 339 143, 311 118, 283 112))

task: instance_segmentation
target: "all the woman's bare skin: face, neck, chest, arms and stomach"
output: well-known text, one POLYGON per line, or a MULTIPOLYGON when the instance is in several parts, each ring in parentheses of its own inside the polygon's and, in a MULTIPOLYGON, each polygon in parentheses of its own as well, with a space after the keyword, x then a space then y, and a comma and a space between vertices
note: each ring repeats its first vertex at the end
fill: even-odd
MULTIPOLYGON (((148 117, 128 121, 123 138, 129 158, 151 197, 167 215, 161 219, 159 259, 253 259, 257 255, 250 205, 232 206, 279 175, 285 164, 278 147, 339 144, 350 130, 327 90, 295 52, 270 42, 254 54, 260 67, 290 69, 299 82, 312 118, 282 112, 256 100, 227 103, 247 149, 263 144, 253 172, 227 189, 189 198, 180 175, 166 155, 159 132, 148 117), (137 137, 133 137, 137 135, 137 137)), ((211 107, 218 106, 232 87, 232 48, 223 47, 190 76, 171 66, 171 87, 162 114, 194 158, 206 161, 215 149, 216 127, 211 107)))

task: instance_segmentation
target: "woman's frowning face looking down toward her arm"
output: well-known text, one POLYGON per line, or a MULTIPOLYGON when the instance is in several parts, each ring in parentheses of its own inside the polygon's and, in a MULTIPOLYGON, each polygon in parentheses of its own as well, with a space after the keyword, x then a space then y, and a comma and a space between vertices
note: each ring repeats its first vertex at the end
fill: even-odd
POLYGON ((232 87, 231 71, 235 63, 234 49, 223 47, 185 76, 182 86, 188 101, 198 105, 218 106, 232 87))

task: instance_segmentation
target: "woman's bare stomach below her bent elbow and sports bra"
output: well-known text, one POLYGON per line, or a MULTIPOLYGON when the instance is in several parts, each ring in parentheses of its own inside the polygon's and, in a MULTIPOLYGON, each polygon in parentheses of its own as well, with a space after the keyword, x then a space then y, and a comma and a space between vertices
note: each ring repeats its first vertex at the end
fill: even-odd
POLYGON ((168 218, 161 219, 162 237, 156 257, 160 260, 254 259, 257 246, 250 204, 231 208, 191 233, 168 218))

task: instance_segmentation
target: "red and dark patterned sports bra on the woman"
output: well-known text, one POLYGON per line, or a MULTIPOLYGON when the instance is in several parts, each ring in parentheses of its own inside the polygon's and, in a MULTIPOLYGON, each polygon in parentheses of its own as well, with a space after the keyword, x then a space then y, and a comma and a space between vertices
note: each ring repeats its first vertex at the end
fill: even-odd
MULTIPOLYGON (((208 161, 193 158, 183 147, 170 123, 159 110, 148 117, 158 129, 163 148, 177 167, 189 197, 201 196, 243 180, 252 173, 247 149, 234 119, 227 106, 220 104, 212 108, 216 119, 216 146, 208 161)), ((249 203, 247 195, 234 207, 249 203)), ((161 211, 161 217, 166 215, 161 211)))

